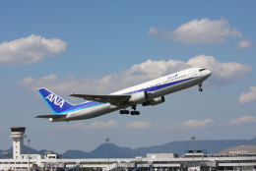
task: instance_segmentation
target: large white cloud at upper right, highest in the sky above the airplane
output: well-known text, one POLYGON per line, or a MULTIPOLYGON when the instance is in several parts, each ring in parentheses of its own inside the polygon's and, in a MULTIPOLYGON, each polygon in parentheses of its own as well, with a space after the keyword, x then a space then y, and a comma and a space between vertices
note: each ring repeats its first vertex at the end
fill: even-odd
POLYGON ((154 28, 148 30, 149 35, 160 36, 163 39, 178 41, 185 44, 210 43, 220 44, 224 37, 241 37, 236 28, 230 28, 224 19, 210 21, 209 19, 193 20, 174 30, 169 28, 154 28))

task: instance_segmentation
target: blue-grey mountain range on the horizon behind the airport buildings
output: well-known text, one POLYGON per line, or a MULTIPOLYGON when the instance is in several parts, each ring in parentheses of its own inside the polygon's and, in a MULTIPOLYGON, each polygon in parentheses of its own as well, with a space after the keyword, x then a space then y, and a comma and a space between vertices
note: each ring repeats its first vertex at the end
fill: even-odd
MULTIPOLYGON (((247 140, 195 141, 195 149, 207 149, 208 153, 217 153, 228 147, 246 144, 247 140)), ((248 144, 256 145, 256 138, 249 140, 248 144)), ((138 147, 135 149, 132 149, 130 147, 117 146, 114 143, 108 143, 108 147, 109 158, 132 158, 135 156, 146 157, 147 153, 169 153, 170 150, 173 153, 183 155, 185 153, 185 149, 193 149, 193 142, 171 142, 171 145, 170 143, 165 143, 149 147, 138 147)), ((24 153, 28 153, 29 150, 31 154, 44 154, 45 151, 48 151, 46 149, 36 150, 25 145, 24 153)), ((3 151, 13 152, 13 148, 11 147, 10 149, 7 150, 0 149, 0 158, 3 158, 3 151)), ((96 149, 92 150, 91 152, 69 149, 62 154, 62 158, 107 158, 107 143, 100 144, 99 146, 96 147, 96 149)))

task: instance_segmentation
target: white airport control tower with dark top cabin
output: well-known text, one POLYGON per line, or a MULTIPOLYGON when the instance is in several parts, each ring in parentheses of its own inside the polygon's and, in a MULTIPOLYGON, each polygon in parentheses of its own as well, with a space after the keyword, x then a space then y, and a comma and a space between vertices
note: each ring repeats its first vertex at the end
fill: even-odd
POLYGON ((18 159, 23 153, 24 138, 27 138, 25 134, 26 127, 11 127, 13 138, 13 158, 18 159))

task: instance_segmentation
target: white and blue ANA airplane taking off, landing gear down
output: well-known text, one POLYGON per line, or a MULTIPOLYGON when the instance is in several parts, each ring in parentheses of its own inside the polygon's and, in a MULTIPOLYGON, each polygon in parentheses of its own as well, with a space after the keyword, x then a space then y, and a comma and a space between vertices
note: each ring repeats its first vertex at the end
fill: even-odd
POLYGON ((199 91, 203 91, 203 82, 211 74, 212 72, 205 68, 191 68, 108 95, 70 94, 69 96, 88 100, 77 105, 71 104, 50 90, 41 87, 38 92, 53 115, 39 115, 35 118, 48 118, 50 122, 69 122, 91 119, 117 110, 120 114, 140 115, 140 112, 136 110, 138 104, 142 104, 142 106, 158 105, 164 102, 164 95, 194 85, 199 85, 199 91), (131 107, 132 111, 127 110, 128 107, 131 107))

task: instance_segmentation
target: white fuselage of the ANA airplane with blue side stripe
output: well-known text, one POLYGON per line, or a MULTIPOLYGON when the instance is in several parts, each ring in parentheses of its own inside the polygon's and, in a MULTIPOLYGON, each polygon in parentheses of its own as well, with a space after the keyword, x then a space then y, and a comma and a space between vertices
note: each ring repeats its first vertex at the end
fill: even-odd
MULTIPOLYGON (((175 91, 179 91, 193 85, 199 85, 211 76, 211 71, 202 68, 192 68, 177 72, 171 75, 161 77, 159 79, 141 84, 131 86, 111 94, 133 94, 137 93, 141 89, 146 89, 149 95, 149 99, 154 99, 175 91)), ((134 103, 125 103, 122 105, 111 105, 110 103, 99 103, 93 107, 78 108, 75 111, 68 113, 66 117, 62 118, 50 118, 51 122, 59 121, 72 121, 95 118, 97 116, 110 113, 116 110, 136 105, 134 103)))

